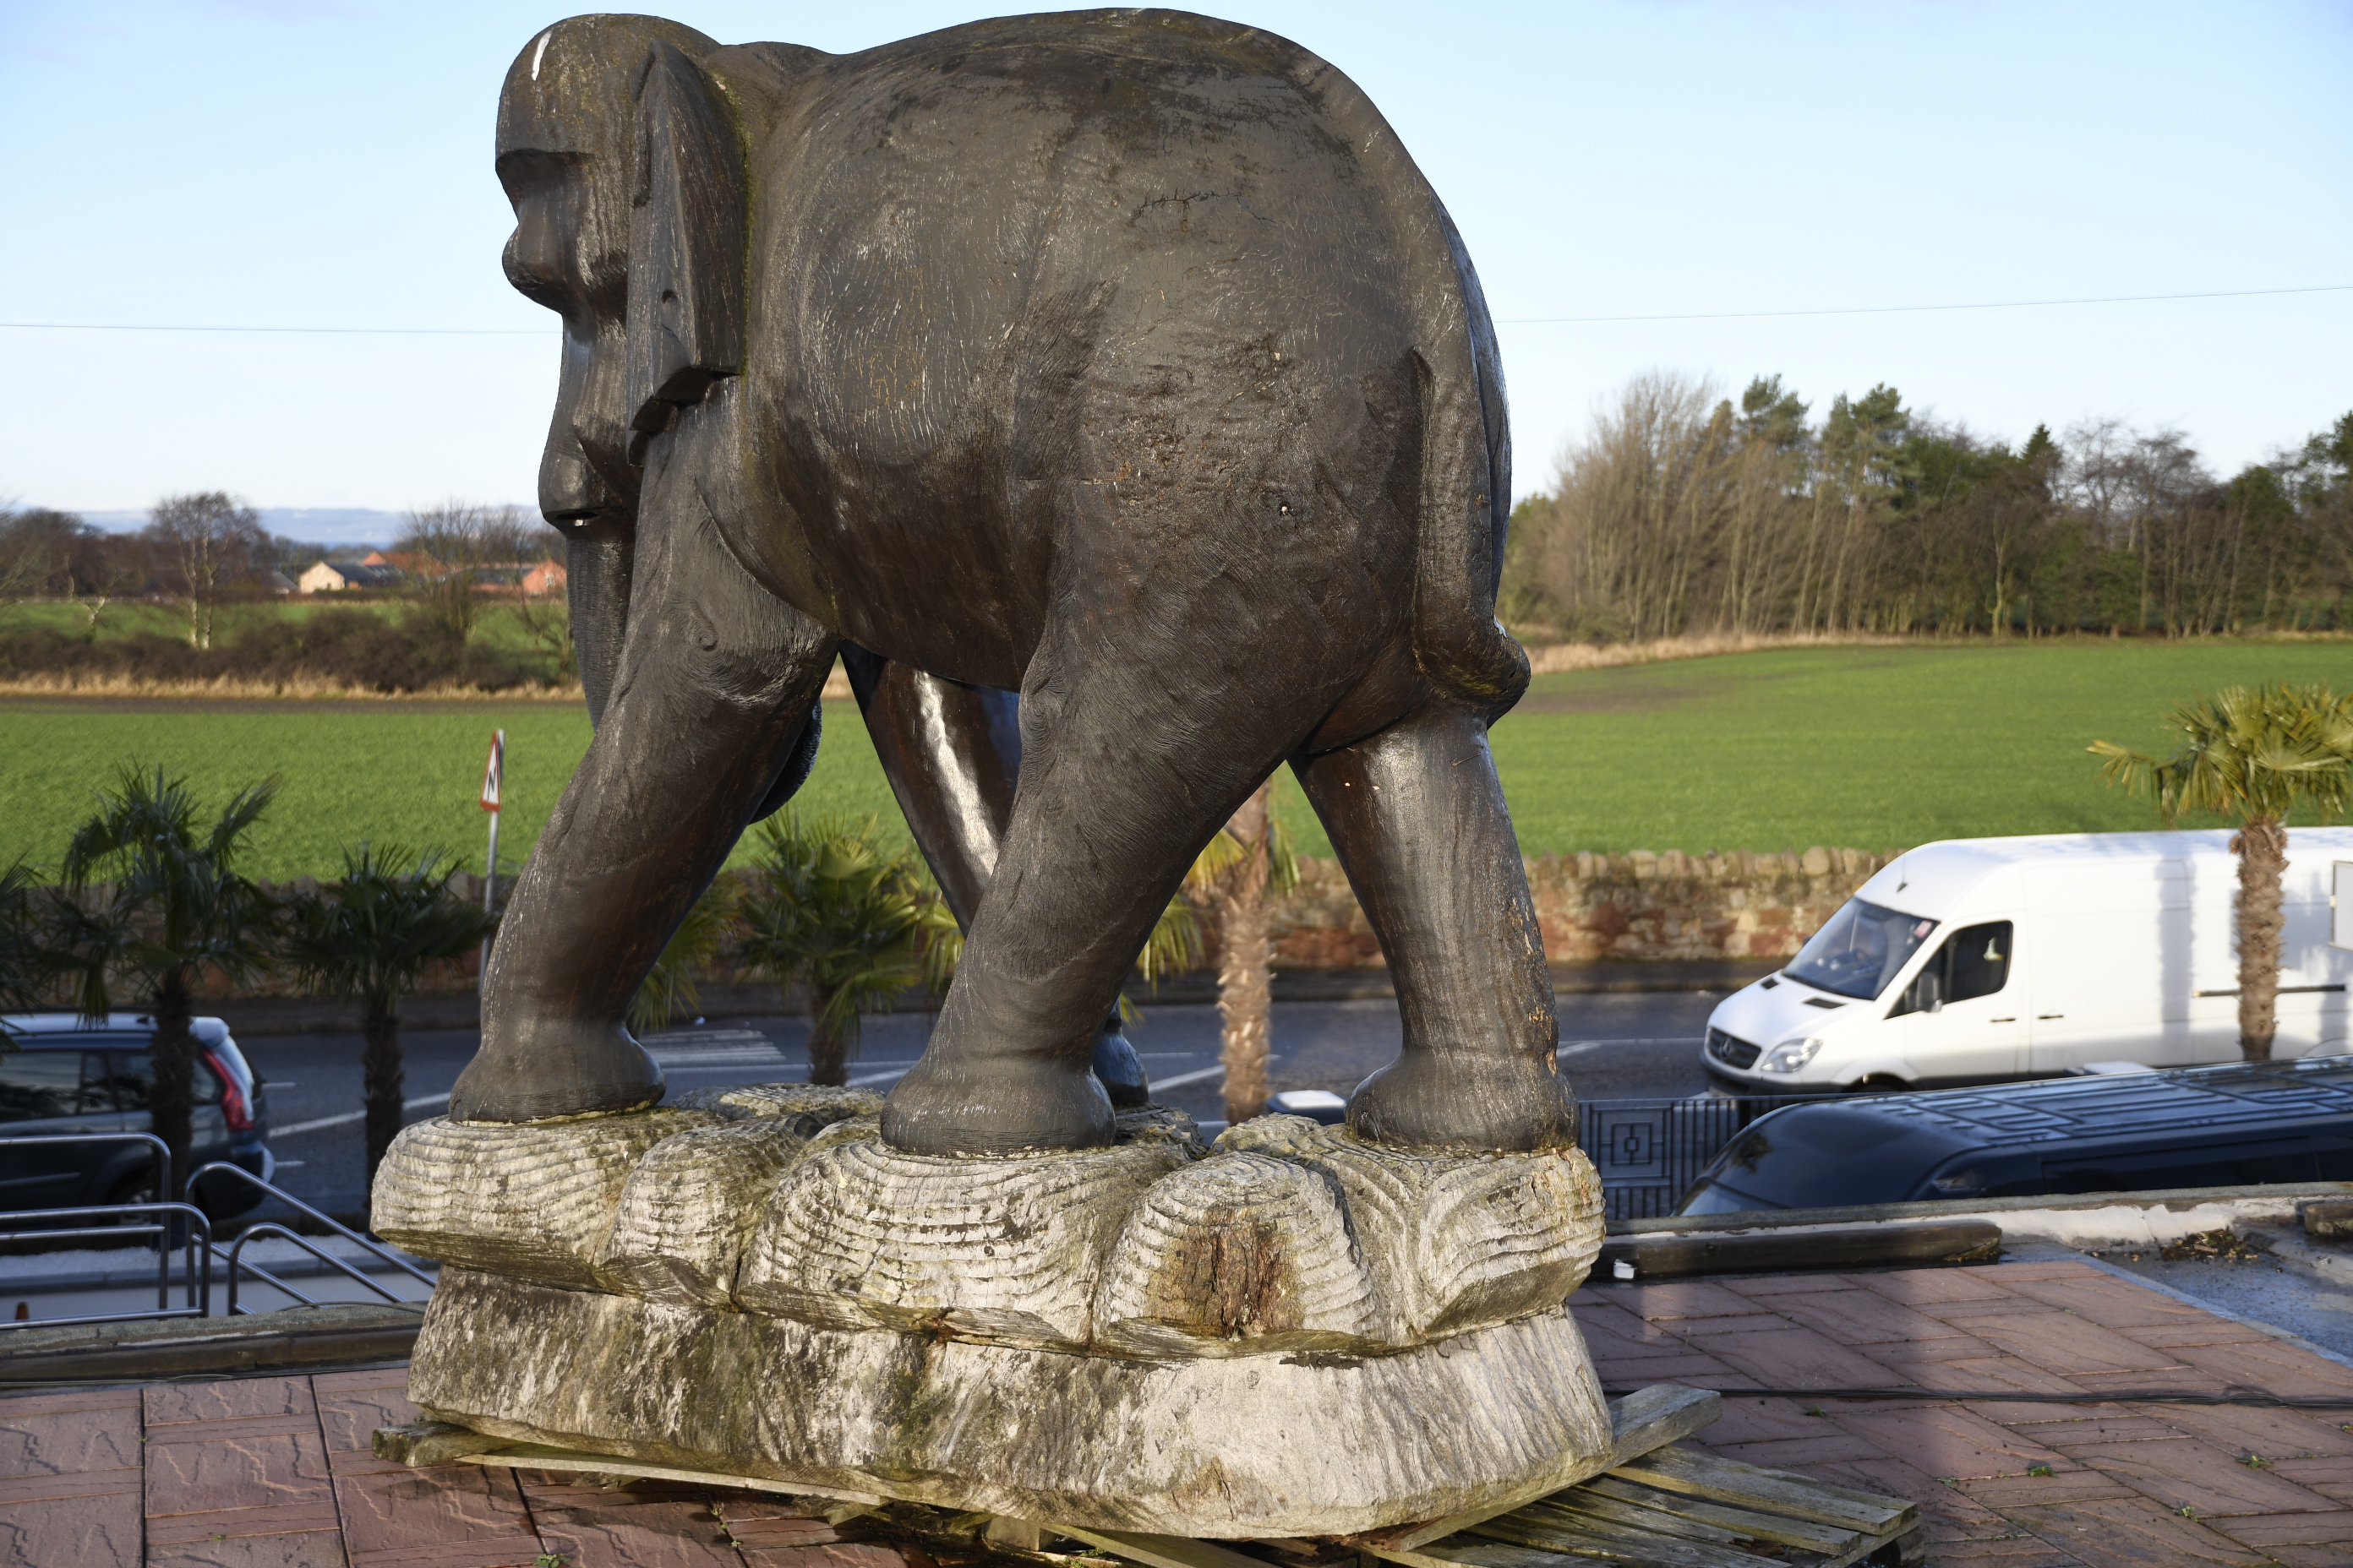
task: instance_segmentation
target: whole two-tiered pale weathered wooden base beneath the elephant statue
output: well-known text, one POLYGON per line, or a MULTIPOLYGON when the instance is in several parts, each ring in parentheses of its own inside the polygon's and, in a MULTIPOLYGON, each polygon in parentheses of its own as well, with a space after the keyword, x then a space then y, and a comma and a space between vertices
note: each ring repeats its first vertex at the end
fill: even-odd
POLYGON ((428 1121, 376 1229, 445 1260, 409 1371, 504 1439, 1193 1537, 1504 1507, 1612 1460, 1562 1300, 1574 1150, 1417 1154, 1297 1117, 1202 1152, 918 1157, 798 1086, 428 1121), (765 1098, 762 1098, 765 1095, 765 1098))

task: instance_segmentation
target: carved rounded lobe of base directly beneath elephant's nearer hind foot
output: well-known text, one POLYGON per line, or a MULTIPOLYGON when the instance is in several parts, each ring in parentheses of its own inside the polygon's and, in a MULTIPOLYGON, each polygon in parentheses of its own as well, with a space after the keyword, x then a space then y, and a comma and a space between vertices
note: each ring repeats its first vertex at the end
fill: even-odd
POLYGON ((833 1128, 784 1173, 736 1279, 744 1309, 1085 1347, 1127 1213, 1186 1164, 1160 1135, 967 1159, 904 1154, 866 1128, 833 1128))

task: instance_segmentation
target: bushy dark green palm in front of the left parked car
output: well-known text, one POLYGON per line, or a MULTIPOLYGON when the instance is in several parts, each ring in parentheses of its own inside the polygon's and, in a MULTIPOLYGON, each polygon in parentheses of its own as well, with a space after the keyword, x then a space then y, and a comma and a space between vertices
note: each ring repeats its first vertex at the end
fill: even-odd
POLYGON ((87 1018, 113 1011, 108 980, 136 976, 155 1016, 155 1084, 148 1126, 172 1152, 172 1168, 188 1168, 188 1117, 195 1107, 195 985, 207 973, 247 980, 268 957, 275 903, 238 875, 245 835, 278 795, 268 778, 240 790, 214 823, 198 832, 195 795, 162 769, 125 766, 115 788, 99 790, 99 811, 66 846, 68 898, 59 912, 59 969, 80 976, 87 1018), (94 898, 94 877, 113 882, 94 898))

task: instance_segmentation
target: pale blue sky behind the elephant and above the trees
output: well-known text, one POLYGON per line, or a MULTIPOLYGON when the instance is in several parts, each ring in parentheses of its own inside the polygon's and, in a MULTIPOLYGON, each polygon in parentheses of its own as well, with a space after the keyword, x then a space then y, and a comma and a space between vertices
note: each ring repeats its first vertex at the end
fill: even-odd
MULTIPOLYGON (((1642 369, 1824 407, 1892 381, 2019 440, 2179 425, 2231 470, 2353 407, 2353 5, 1228 0, 1348 71, 1504 324, 1518 489, 1642 369)), ((529 501, 551 320, 499 275, 508 59, 546 5, 0 0, 0 501, 129 515, 529 501)), ((678 0, 720 40, 859 49, 984 14, 678 0)))

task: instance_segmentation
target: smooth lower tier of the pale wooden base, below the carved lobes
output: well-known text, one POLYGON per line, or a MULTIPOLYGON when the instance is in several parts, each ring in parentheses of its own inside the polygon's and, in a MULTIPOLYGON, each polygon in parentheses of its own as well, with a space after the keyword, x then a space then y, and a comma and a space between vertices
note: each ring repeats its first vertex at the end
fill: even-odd
POLYGON ((1144 1361, 447 1269, 409 1396, 515 1441, 1198 1537, 1438 1519, 1612 1458, 1560 1309, 1391 1356, 1144 1361))

